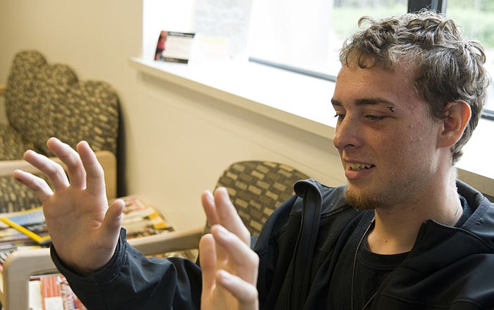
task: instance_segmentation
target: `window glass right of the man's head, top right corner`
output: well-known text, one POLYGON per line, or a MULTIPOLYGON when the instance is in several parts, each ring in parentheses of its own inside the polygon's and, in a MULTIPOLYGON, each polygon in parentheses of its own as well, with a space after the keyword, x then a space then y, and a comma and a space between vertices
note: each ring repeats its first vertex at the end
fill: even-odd
MULTIPOLYGON (((464 33, 486 48, 487 69, 494 77, 494 0, 448 0, 446 15, 464 28, 464 33)), ((494 83, 490 84, 486 110, 494 111, 494 83)))

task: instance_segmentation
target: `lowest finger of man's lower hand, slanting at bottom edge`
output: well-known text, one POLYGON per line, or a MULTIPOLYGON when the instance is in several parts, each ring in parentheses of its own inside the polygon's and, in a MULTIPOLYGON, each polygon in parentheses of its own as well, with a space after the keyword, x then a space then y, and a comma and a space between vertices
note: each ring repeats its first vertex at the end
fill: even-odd
MULTIPOLYGON (((258 294, 257 288, 254 285, 222 269, 216 271, 216 282, 232 293, 240 304, 251 306, 251 308, 248 309, 255 309, 255 307, 252 308, 252 306, 257 304, 258 294)), ((247 307, 245 309, 247 309, 247 307)))

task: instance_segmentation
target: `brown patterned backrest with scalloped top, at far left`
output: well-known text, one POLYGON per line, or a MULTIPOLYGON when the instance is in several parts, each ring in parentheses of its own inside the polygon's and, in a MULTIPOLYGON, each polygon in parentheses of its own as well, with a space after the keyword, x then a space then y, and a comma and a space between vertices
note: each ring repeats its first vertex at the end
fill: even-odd
POLYGON ((5 92, 8 122, 37 151, 52 155, 49 137, 75 147, 86 140, 95 151, 116 154, 119 102, 102 81, 79 81, 64 64, 47 63, 38 51, 21 51, 13 59, 5 92))

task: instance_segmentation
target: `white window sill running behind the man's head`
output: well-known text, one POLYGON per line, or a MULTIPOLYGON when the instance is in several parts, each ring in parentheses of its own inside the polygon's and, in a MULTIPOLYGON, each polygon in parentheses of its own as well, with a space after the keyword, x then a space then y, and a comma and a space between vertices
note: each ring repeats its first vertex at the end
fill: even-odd
MULTIPOLYGON (((332 140, 335 128, 330 99, 334 82, 257 63, 184 65, 131 58, 142 73, 192 89, 242 109, 259 113, 332 140)), ((465 155, 457 164, 459 178, 494 196, 493 149, 485 143, 494 122, 481 119, 465 155)))

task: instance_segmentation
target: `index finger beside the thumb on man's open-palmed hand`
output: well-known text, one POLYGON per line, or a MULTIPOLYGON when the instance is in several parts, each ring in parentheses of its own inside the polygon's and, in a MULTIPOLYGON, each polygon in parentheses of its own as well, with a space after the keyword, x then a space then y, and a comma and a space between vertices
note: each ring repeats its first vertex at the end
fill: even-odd
POLYGON ((106 194, 104 183, 104 171, 99 163, 96 154, 92 151, 89 144, 81 141, 77 145, 77 150, 86 171, 86 189, 88 192, 101 195, 106 194))

